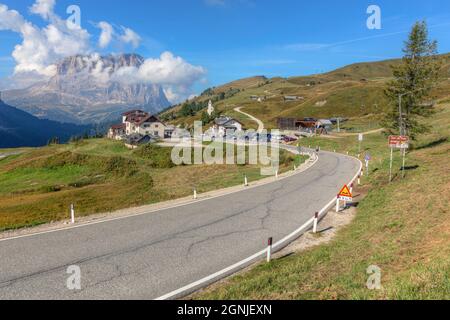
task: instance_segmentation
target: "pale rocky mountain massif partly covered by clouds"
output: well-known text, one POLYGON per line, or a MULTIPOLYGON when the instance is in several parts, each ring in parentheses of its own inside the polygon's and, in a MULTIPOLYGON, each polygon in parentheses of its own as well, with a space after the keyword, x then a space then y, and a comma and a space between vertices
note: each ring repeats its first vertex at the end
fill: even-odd
POLYGON ((158 113, 170 106, 161 86, 111 77, 120 68, 139 68, 143 62, 136 54, 68 57, 49 81, 5 91, 2 98, 38 118, 77 124, 108 122, 130 109, 158 113))

